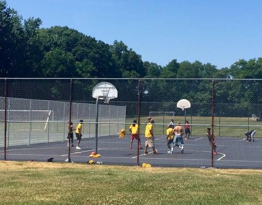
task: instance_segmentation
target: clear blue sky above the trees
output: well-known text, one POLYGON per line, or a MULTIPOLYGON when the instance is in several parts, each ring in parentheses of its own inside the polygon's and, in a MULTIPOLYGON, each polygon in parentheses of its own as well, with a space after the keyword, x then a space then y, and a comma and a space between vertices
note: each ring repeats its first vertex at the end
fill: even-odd
POLYGON ((262 57, 261 0, 7 0, 42 27, 68 26, 165 66, 199 60, 217 68, 262 57))

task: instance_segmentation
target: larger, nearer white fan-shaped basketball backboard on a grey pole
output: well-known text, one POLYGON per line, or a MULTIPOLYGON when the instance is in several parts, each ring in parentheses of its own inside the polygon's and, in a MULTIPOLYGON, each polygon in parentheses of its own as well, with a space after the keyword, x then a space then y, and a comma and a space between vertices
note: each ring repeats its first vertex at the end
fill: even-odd
POLYGON ((99 99, 107 98, 108 100, 110 100, 113 98, 117 98, 117 90, 113 84, 108 82, 102 82, 97 84, 93 88, 92 97, 93 98, 99 97, 99 99))

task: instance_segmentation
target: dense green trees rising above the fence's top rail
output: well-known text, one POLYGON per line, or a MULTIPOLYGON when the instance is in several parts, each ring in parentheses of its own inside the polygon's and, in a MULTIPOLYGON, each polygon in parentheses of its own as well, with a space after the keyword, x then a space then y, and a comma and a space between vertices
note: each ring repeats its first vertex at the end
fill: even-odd
POLYGON ((39 29, 42 20, 23 17, 0 1, 1 77, 261 78, 262 58, 238 60, 230 68, 199 61, 162 67, 128 48, 108 45, 68 27, 39 29))

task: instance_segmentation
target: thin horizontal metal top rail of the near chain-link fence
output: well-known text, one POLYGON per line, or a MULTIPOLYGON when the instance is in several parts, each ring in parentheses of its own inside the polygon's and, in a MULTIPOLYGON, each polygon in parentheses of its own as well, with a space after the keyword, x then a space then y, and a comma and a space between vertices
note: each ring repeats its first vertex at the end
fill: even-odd
POLYGON ((260 78, 255 79, 255 78, 248 78, 248 79, 241 79, 241 78, 98 78, 98 77, 91 77, 91 78, 69 78, 69 77, 65 77, 65 78, 27 78, 27 77, 1 77, 0 80, 3 79, 39 79, 39 80, 57 80, 57 79, 61 79, 61 80, 71 80, 71 79, 79 79, 79 80, 99 80, 99 79, 111 79, 111 80, 262 80, 260 78))

